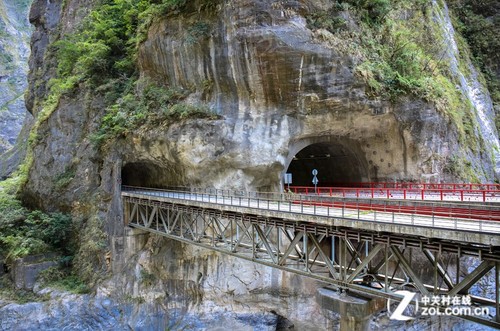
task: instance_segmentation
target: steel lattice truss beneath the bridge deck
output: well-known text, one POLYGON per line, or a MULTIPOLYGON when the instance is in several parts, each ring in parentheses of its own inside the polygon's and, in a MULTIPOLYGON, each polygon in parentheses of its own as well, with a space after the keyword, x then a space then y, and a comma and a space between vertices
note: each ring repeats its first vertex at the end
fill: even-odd
POLYGON ((401 300, 471 292, 500 328, 500 254, 494 247, 270 218, 122 196, 125 223, 184 243, 323 281, 339 290, 401 300), (469 266, 463 267, 464 260, 469 266))

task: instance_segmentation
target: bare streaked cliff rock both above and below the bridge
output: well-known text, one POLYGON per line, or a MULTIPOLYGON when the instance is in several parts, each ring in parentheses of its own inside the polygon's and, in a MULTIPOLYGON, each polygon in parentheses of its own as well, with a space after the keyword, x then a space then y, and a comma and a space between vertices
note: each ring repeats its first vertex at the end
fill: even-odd
MULTIPOLYGON (((329 9, 330 1, 237 0, 209 8, 193 3, 151 25, 139 48, 138 68, 144 81, 191 91, 187 100, 207 105, 218 119, 139 128, 99 150, 90 135, 106 112, 105 96, 80 86, 38 122, 23 199, 105 220, 110 268, 120 284, 107 284, 106 293, 132 293, 172 309, 209 309, 216 302, 243 310, 247 302, 266 300, 296 321, 304 318, 297 311, 306 306, 320 315, 309 299, 318 284, 158 238, 131 242, 121 222, 120 183, 279 190, 294 157, 311 145, 337 157, 331 163, 337 181, 454 181, 465 179, 456 169, 464 165, 476 169, 479 180, 498 176, 494 147, 481 147, 492 139, 498 144, 494 127, 485 135, 475 126, 470 134, 477 141, 463 145, 459 124, 433 103, 410 96, 391 102, 369 92, 356 71, 360 57, 343 50, 330 32, 306 24, 308 14, 329 9), (162 248, 168 245, 178 254, 168 255, 162 248), (182 273, 176 266, 184 263, 190 269, 182 273), (245 268, 252 279, 238 279, 235 270, 245 268), (155 291, 141 287, 141 270, 160 275, 156 292, 178 291, 186 301, 148 296, 155 291), (307 289, 306 297, 290 294, 293 287, 307 289), (293 298, 282 300, 285 295, 293 298)), ((51 43, 73 31, 90 4, 39 0, 33 5, 27 102, 33 114, 42 113, 47 83, 56 72, 51 43)), ((321 328, 332 322, 323 316, 317 323, 321 328)))

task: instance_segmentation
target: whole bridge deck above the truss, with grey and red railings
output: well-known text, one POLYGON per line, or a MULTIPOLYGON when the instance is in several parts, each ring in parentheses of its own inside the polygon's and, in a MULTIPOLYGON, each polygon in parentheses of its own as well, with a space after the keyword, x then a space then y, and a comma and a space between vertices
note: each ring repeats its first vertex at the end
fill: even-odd
POLYGON ((123 186, 122 189, 124 192, 148 197, 185 199, 349 220, 500 233, 500 204, 351 199, 185 187, 152 189, 123 186))

